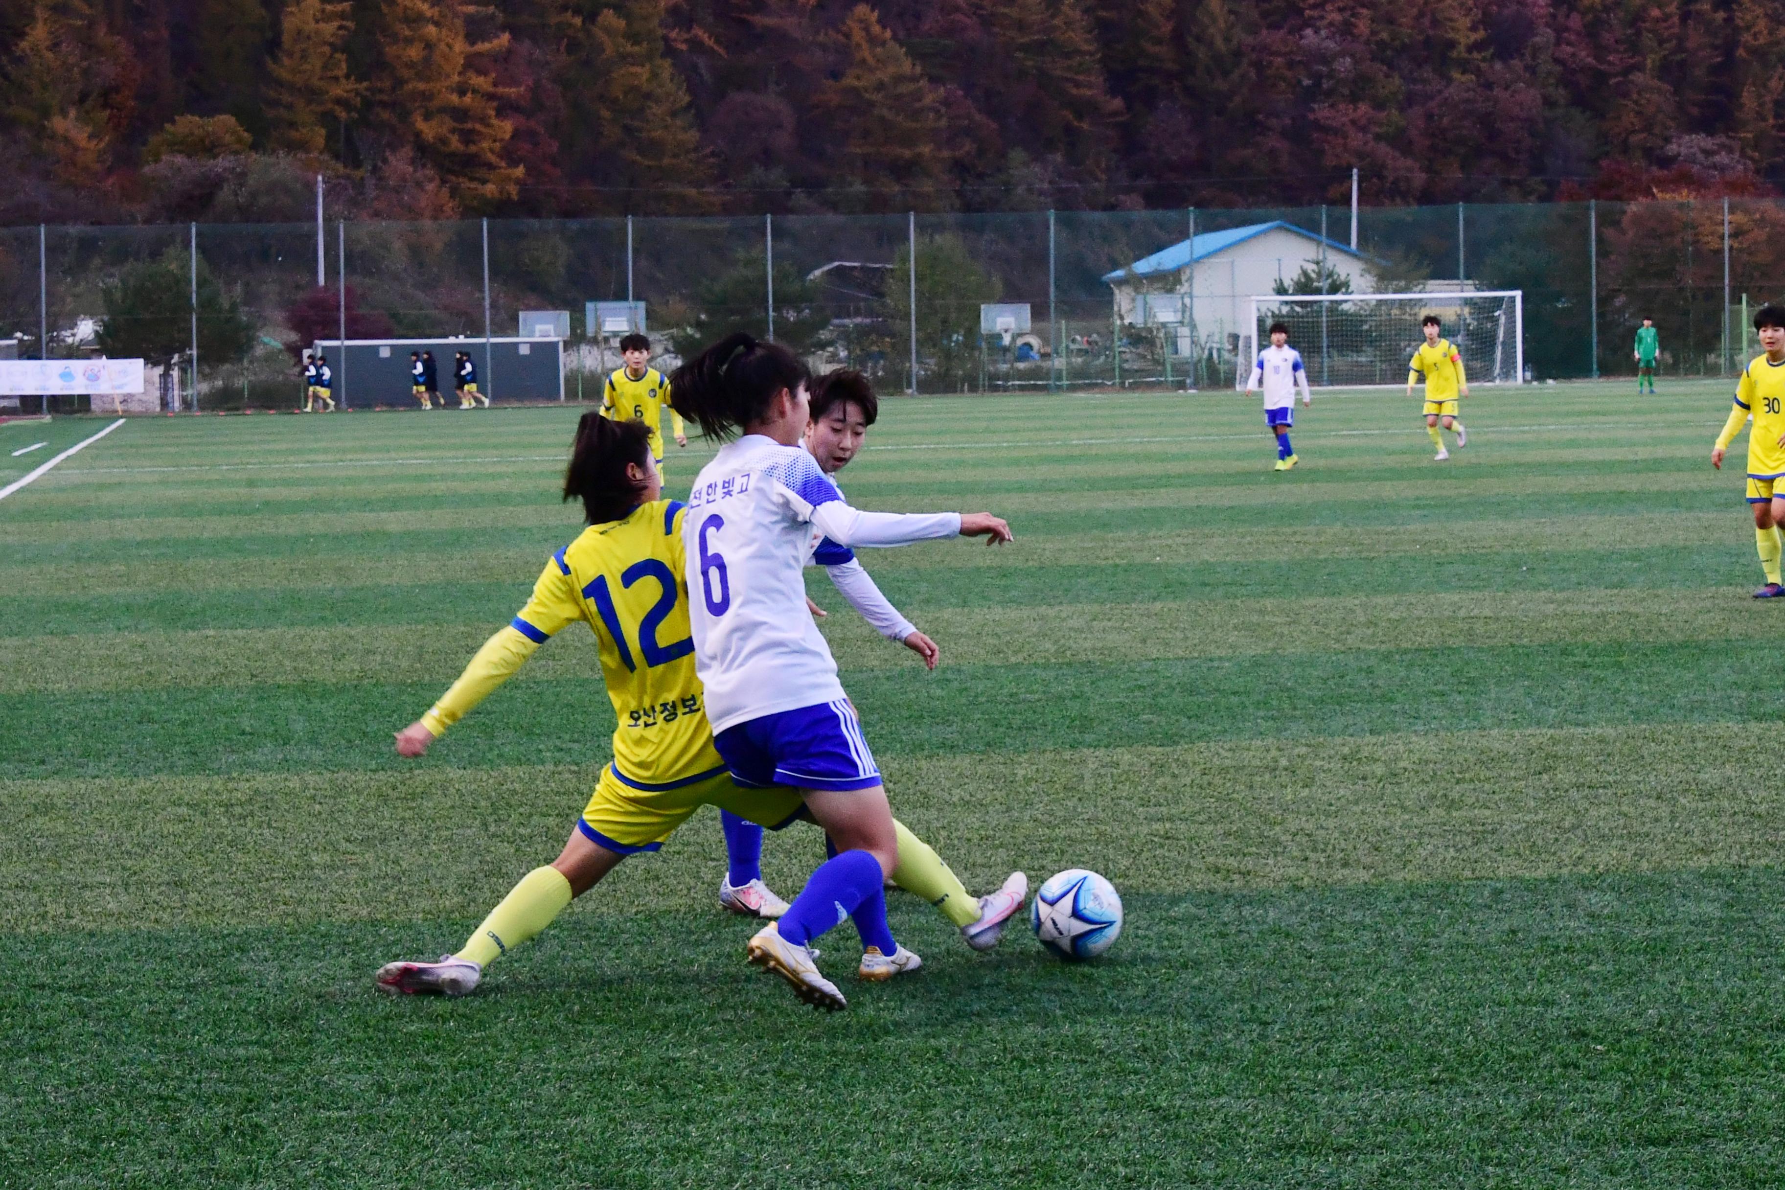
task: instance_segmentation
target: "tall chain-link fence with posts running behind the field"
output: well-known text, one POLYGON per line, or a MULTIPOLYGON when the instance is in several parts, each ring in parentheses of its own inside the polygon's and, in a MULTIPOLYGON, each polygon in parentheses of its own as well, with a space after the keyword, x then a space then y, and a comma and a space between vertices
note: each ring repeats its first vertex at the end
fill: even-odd
POLYGON ((1644 316, 1664 375, 1728 375, 1785 289, 1780 225, 1785 203, 1714 200, 0 228, 0 350, 139 355, 130 407, 296 409, 316 344, 352 409, 412 405, 419 344, 486 360, 498 401, 596 400, 634 326, 598 303, 632 302, 662 368, 744 328, 884 391, 1182 389, 1233 382, 1255 296, 1515 289, 1526 378, 1633 373, 1644 316), (503 350, 546 376, 557 353, 555 391, 503 350))

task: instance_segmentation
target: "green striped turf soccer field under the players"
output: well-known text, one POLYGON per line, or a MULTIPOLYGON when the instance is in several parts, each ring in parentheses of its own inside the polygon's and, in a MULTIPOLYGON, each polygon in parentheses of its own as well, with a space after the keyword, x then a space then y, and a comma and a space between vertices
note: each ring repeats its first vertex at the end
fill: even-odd
POLYGON ((1017 533, 868 558, 934 674, 812 580, 894 806, 1128 924, 900 896, 925 971, 835 1017, 744 965, 712 814, 478 996, 371 988, 607 756, 580 632, 391 749, 575 535, 577 409, 132 421, 0 503, 0 1185, 1778 1185, 1785 608, 1726 384, 1630 387, 1476 389, 1444 466, 1323 394, 1291 475, 1235 394, 889 401, 851 500, 1017 533))

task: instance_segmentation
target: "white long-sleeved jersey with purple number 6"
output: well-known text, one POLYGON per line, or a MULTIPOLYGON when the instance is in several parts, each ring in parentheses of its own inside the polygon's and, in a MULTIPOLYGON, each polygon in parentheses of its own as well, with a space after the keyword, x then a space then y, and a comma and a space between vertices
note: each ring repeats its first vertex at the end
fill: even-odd
POLYGON ((821 537, 903 546, 959 532, 957 512, 857 512, 803 446, 748 434, 721 448, 694 476, 682 521, 694 667, 712 730, 844 698, 805 607, 803 571, 821 537))

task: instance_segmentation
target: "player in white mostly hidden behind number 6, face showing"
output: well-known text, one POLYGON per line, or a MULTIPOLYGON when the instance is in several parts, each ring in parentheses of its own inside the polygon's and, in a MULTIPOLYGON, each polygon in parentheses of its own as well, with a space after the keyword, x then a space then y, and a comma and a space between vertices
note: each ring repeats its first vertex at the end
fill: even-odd
MULTIPOLYGON (((871 426, 880 416, 880 398, 868 376, 848 368, 825 373, 812 382, 809 401, 810 421, 805 426, 805 450, 818 460, 818 469, 835 482, 839 471, 850 466, 860 451, 871 426)), ((837 489, 843 491, 841 487, 837 489)), ((873 576, 855 558, 855 551, 814 533, 812 562, 823 566, 830 582, 844 599, 850 601, 862 619, 887 640, 896 640, 923 658, 925 665, 935 669, 941 649, 935 640, 917 632, 917 626, 900 616, 900 610, 880 592, 873 576)), ((825 616, 816 605, 807 601, 814 616, 825 616)), ((728 810, 719 812, 725 828, 726 874, 719 881, 719 905, 746 917, 780 917, 787 912, 787 903, 769 892, 762 883, 762 828, 737 817, 728 810)), ((894 881, 896 883, 896 881, 894 881)), ((1003 896, 1000 890, 992 896, 1003 896)), ((982 917, 982 906, 971 899, 946 896, 935 903, 948 921, 962 930, 969 930, 982 917)), ((996 938, 985 942, 991 946, 996 938)), ((969 933, 967 946, 984 949, 969 933)))

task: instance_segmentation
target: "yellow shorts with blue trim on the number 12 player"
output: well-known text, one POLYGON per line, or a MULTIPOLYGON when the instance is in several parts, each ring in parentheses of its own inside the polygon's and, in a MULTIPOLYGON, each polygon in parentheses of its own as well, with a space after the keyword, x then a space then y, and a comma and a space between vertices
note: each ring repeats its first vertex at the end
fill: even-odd
POLYGON ((657 851, 702 806, 730 810, 769 830, 787 826, 805 810, 805 799, 794 790, 744 789, 725 769, 669 781, 668 789, 641 785, 607 765, 577 828, 609 851, 634 855, 657 851))

